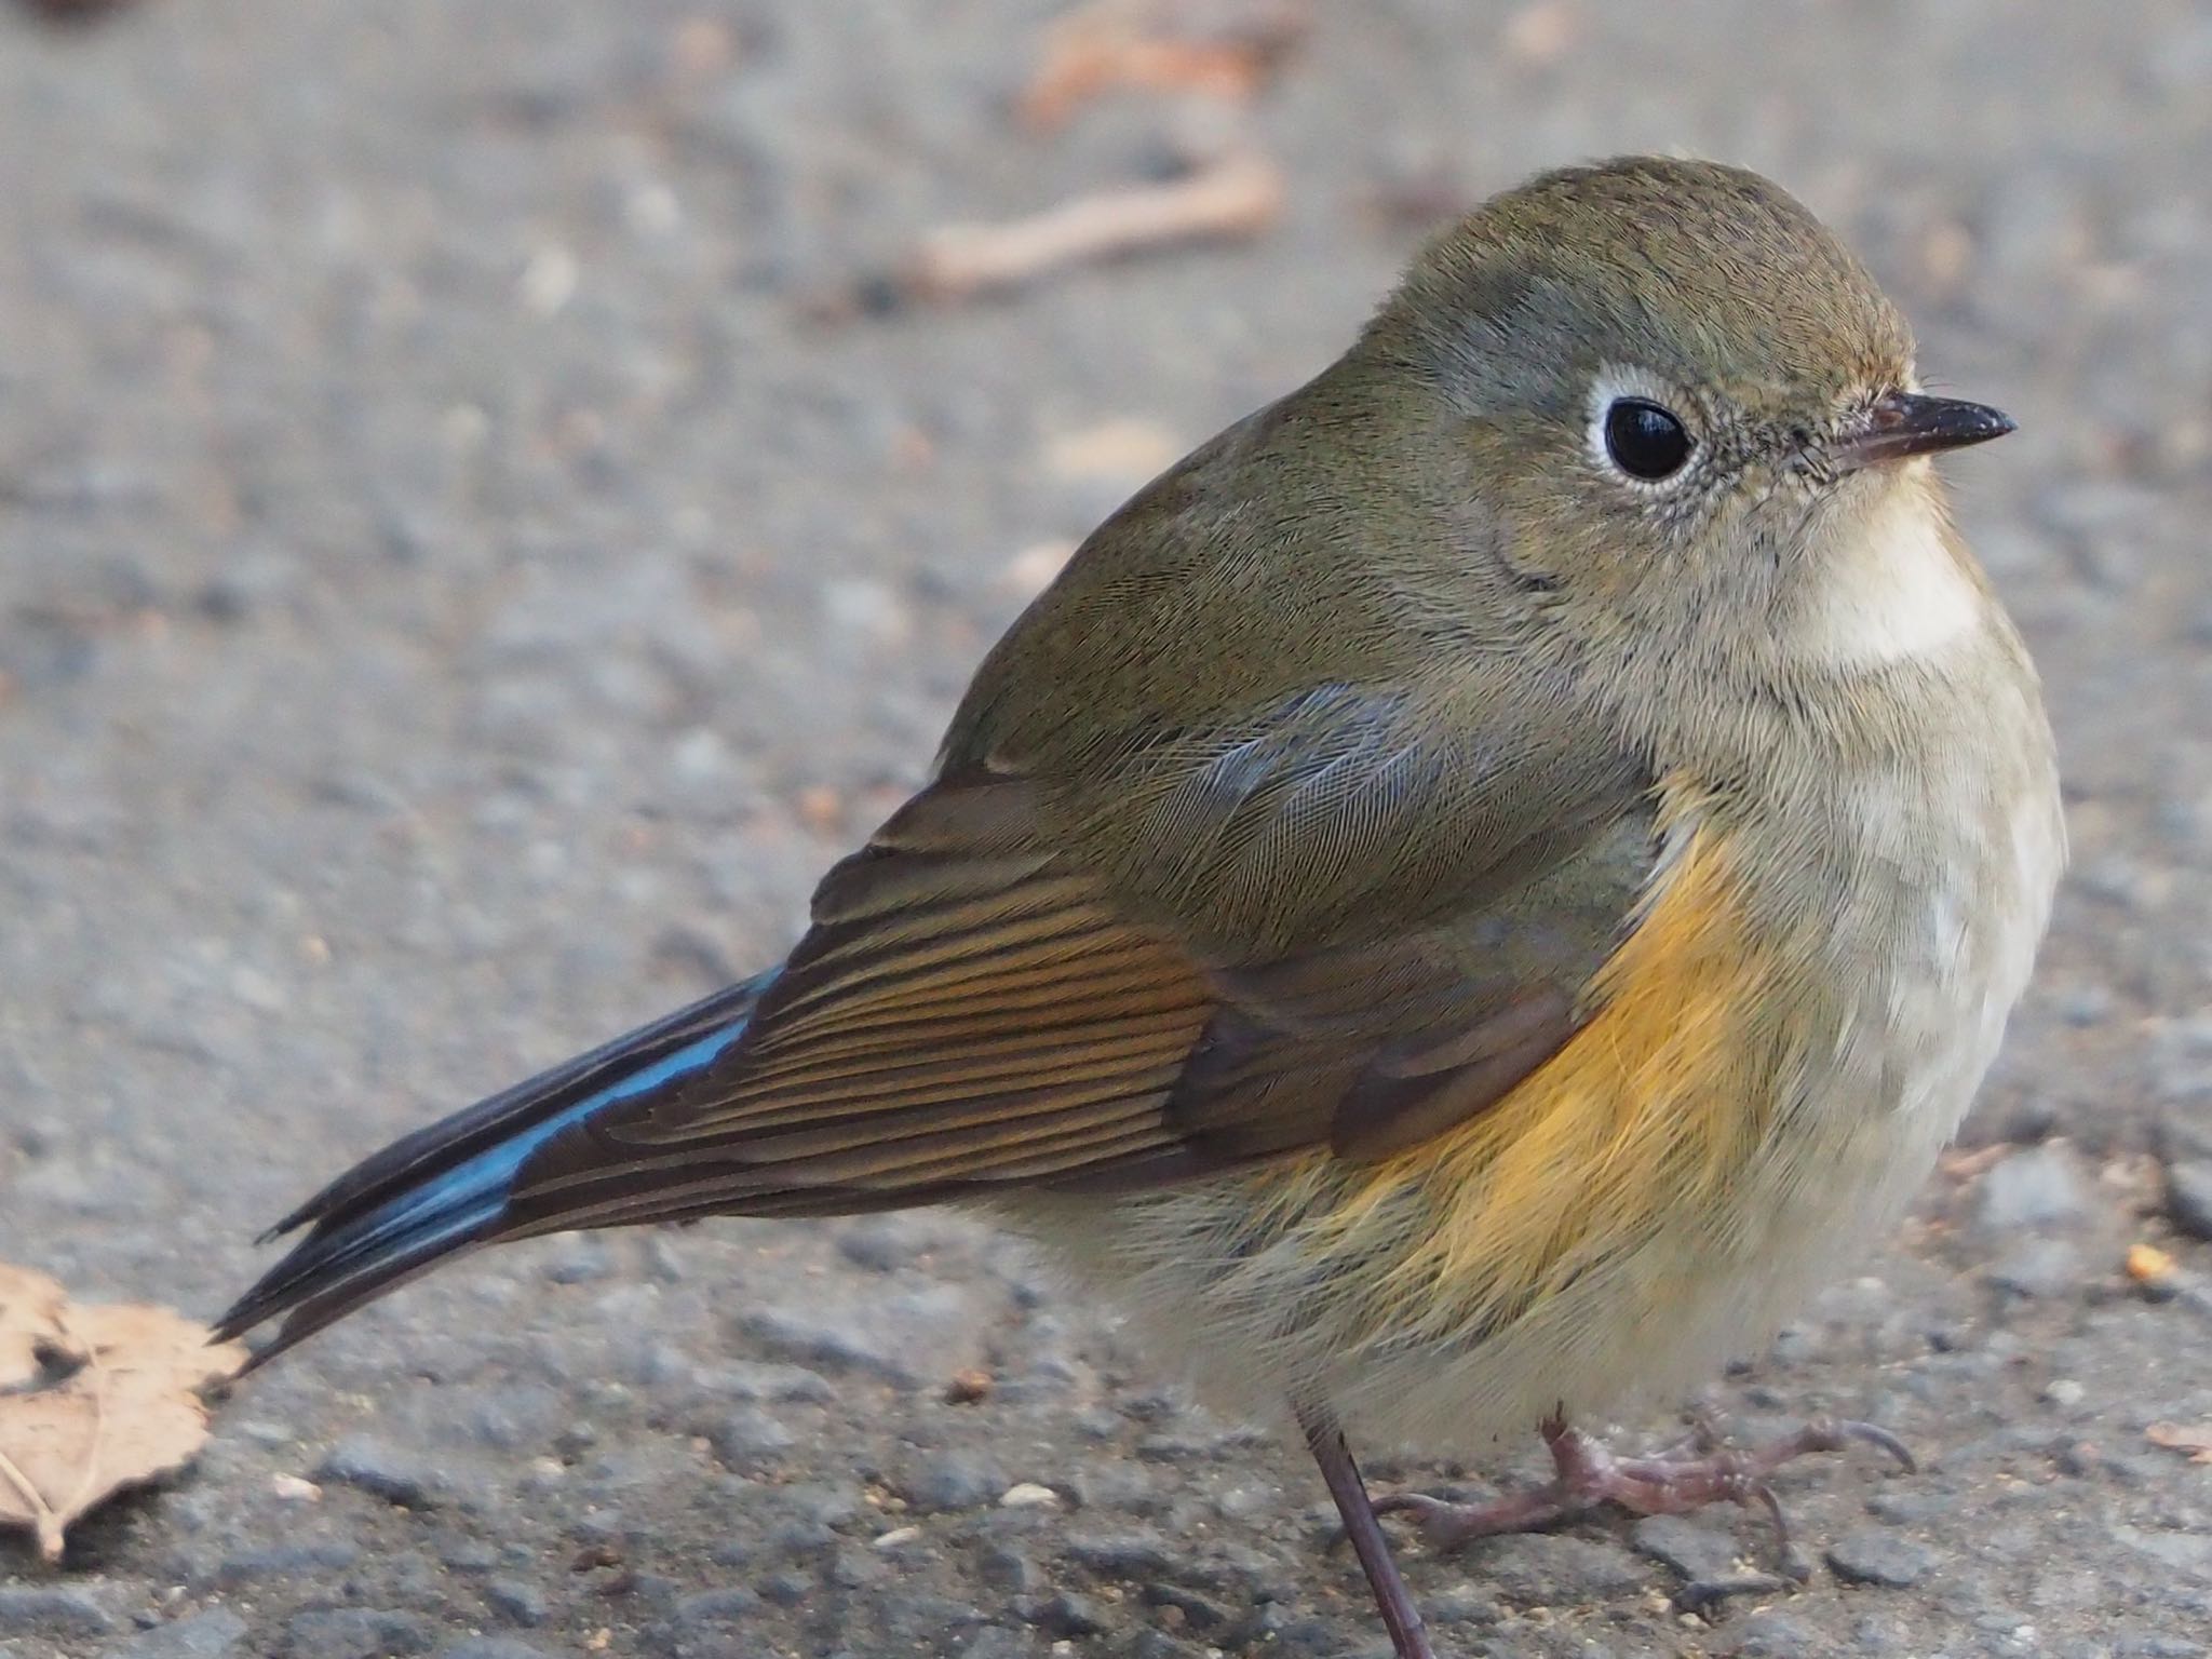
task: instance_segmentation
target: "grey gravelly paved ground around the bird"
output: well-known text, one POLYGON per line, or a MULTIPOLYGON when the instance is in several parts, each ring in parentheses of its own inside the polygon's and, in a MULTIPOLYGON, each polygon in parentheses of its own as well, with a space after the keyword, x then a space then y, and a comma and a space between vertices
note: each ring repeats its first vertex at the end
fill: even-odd
MULTIPOLYGON (((2212 1652, 2212 1467, 2143 1436, 2212 1418, 2212 1298, 2119 1272, 2212 1276, 2212 15, 1336 7, 1250 117, 1263 241, 810 321, 1219 124, 1018 135, 1051 13, 0 22, 0 1259, 212 1312, 341 1161, 765 960, 1055 549, 1334 354, 1413 208, 1703 150, 2022 420, 1955 473, 2077 876, 1984 1155, 1712 1394, 1922 1473, 1792 1471, 1803 1588, 1739 1513, 1409 1575, 1460 1655, 2212 1652)), ((1371 1473, 1533 1471, 1451 1451, 1371 1473)), ((60 1577, 0 1544, 0 1655, 1374 1652, 1325 1531, 958 1217, 555 1239, 257 1378, 60 1577)))

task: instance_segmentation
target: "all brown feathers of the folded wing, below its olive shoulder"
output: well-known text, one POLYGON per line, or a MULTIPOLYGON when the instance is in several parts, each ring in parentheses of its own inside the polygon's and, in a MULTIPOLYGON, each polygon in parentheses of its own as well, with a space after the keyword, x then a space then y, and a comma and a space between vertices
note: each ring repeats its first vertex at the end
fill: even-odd
POLYGON ((1305 1146, 1378 1157, 1504 1095, 1577 1026, 1641 878, 1624 821, 1528 894, 1546 927, 1447 925, 1206 969, 1035 847, 1020 781, 918 796, 816 898, 743 1044, 522 1172, 518 1230, 1124 1188, 1305 1146), (1559 927, 1579 909, 1588 925, 1559 927))

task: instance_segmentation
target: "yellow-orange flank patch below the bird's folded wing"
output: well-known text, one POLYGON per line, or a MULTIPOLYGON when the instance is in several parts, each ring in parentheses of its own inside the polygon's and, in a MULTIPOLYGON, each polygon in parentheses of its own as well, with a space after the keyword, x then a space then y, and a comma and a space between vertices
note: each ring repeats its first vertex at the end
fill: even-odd
POLYGON ((1770 967, 1728 845, 1694 830, 1599 971, 1597 1013, 1573 1042, 1489 1110, 1360 1170, 1314 1217, 1312 1248, 1369 1263, 1369 1318, 1389 1314, 1374 1323, 1449 1336, 1624 1263, 1668 1221, 1725 1217, 1772 1110, 1745 1018, 1774 993, 1770 967))

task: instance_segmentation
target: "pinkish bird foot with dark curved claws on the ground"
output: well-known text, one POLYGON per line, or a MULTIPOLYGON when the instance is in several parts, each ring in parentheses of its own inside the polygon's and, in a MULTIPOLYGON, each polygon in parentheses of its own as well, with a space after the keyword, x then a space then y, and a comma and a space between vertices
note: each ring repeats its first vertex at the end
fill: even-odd
POLYGON ((1759 1504, 1774 1522, 1783 1564, 1790 1568, 1796 1559, 1790 1517, 1770 1478, 1785 1462, 1814 1451, 1845 1451, 1854 1442, 1878 1447, 1907 1471, 1913 1469, 1913 1453, 1889 1429, 1840 1418, 1814 1418, 1796 1433, 1759 1447, 1728 1447, 1699 1420, 1686 1440, 1646 1458, 1615 1455, 1604 1440, 1568 1427, 1564 1418, 1548 1418, 1544 1444, 1551 1449, 1553 1480, 1546 1484, 1489 1504, 1391 1493, 1376 1500, 1376 1513, 1413 1515, 1429 1548, 1453 1551, 1475 1537, 1542 1531, 1608 1502, 1637 1515, 1683 1515, 1714 1502, 1759 1504))

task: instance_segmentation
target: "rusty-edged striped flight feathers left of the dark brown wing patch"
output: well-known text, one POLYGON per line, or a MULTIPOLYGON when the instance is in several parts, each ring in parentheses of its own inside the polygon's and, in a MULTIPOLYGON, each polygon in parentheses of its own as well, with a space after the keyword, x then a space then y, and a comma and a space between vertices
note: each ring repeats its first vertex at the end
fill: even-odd
POLYGON ((1164 1106, 1217 1000, 1093 883, 1011 847, 1020 783, 920 796, 816 896, 745 1044, 551 1144, 518 1219, 854 1208, 1172 1150, 1164 1106), (810 1203, 812 1199, 812 1203, 810 1203))

